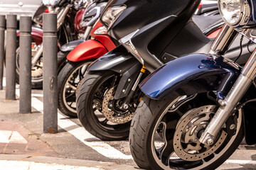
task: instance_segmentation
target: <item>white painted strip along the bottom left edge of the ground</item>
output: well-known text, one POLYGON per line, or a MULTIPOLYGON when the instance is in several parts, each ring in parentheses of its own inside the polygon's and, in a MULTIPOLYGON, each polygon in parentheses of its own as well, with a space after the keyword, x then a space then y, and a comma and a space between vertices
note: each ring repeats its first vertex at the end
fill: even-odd
POLYGON ((0 160, 2 170, 18 169, 18 170, 46 170, 46 169, 65 169, 65 170, 100 170, 100 168, 92 168, 87 166, 69 166, 64 164, 43 164, 37 162, 22 162, 22 161, 6 161, 0 160))

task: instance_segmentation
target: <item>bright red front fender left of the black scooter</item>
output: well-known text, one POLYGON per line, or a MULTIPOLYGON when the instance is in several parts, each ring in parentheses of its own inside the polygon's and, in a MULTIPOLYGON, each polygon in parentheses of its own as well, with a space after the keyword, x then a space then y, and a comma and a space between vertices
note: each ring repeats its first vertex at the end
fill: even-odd
POLYGON ((106 48, 96 40, 87 40, 74 48, 67 59, 71 62, 80 62, 84 60, 99 58, 107 53, 106 48))

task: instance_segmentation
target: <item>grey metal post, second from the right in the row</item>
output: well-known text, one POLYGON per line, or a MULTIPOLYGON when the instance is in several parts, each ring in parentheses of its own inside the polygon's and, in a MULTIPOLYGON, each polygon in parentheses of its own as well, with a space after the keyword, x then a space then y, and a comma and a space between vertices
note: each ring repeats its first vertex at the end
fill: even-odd
POLYGON ((20 18, 20 113, 31 113, 31 17, 20 18))

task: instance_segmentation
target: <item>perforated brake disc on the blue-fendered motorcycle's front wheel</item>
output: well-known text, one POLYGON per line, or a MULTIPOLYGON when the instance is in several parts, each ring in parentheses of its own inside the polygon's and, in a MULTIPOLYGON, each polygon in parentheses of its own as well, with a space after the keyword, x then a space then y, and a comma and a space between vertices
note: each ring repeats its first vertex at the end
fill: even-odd
POLYGON ((202 132, 210 122, 218 106, 202 106, 184 114, 176 126, 174 134, 174 151, 181 159, 198 161, 213 154, 225 141, 227 133, 222 130, 213 145, 203 145, 199 142, 202 132))

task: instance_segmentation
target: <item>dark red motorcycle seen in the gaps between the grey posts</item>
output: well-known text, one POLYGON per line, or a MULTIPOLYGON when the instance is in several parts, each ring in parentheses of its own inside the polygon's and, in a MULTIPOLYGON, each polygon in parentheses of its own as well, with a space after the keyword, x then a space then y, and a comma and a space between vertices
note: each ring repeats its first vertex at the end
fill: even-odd
MULTIPOLYGON (((87 6, 87 1, 79 1, 79 0, 56 0, 54 6, 50 6, 49 12, 58 13, 58 47, 64 45, 67 42, 72 40, 77 40, 82 37, 85 28, 78 27, 77 23, 81 21, 82 16, 78 15, 85 11, 84 8, 87 6), (53 7, 53 8, 52 8, 53 7)), ((45 8, 43 6, 39 7, 39 12, 43 12, 45 8)), ((36 13, 36 18, 40 16, 40 14, 36 13)), ((43 86, 43 30, 40 24, 40 19, 34 19, 36 22, 36 26, 32 27, 32 88, 40 89, 43 86), (38 23, 39 22, 39 23, 38 23)), ((40 17, 39 17, 40 18, 40 17)), ((17 33, 17 38, 19 38, 20 33, 17 33)), ((58 58, 58 67, 63 66, 65 63, 65 58, 58 58)), ((19 47, 17 40, 17 49, 16 49, 16 81, 18 82, 19 75, 19 47)))

